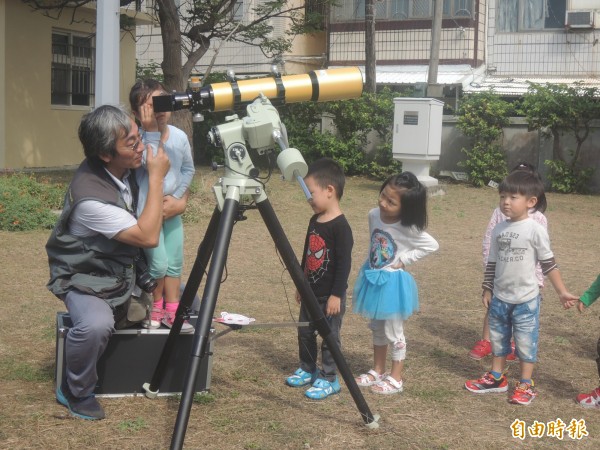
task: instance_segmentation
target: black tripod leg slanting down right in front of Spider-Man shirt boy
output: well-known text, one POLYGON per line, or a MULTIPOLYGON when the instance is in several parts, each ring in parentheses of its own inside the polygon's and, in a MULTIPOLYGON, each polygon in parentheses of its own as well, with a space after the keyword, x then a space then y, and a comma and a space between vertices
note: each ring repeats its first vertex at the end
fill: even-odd
POLYGON ((290 245, 290 242, 288 241, 269 200, 266 199, 259 202, 258 210, 260 211, 260 214, 267 225, 267 228, 269 229, 269 233, 275 242, 277 250, 279 250, 281 257, 283 258, 285 266, 290 272, 292 280, 294 280, 294 284, 296 285, 298 292, 300 292, 300 295, 306 302, 306 307, 310 316, 313 318, 317 331, 321 337, 327 341, 331 355, 333 356, 338 370, 340 371, 340 375, 346 382, 346 386, 348 387, 348 390, 354 399, 354 403, 356 403, 356 407, 362 415, 363 421, 368 426, 372 424, 373 427, 376 427, 378 418, 373 417, 367 402, 365 401, 360 389, 358 388, 358 385, 356 384, 356 381, 354 380, 352 372, 346 364, 346 360, 344 359, 337 342, 331 336, 331 328, 329 327, 329 323, 327 323, 327 318, 323 314, 323 311, 321 311, 321 308, 319 308, 315 294, 313 293, 308 281, 306 280, 306 277, 304 276, 304 272, 302 271, 302 268, 296 259, 294 250, 292 249, 292 246, 290 245))

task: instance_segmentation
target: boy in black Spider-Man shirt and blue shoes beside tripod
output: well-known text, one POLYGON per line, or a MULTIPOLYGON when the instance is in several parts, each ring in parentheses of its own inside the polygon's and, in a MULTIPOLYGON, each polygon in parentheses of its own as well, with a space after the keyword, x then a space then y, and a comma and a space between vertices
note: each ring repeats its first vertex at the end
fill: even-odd
MULTIPOLYGON (((340 209, 345 184, 344 171, 332 159, 322 158, 309 166, 304 182, 312 195, 309 203, 315 214, 308 223, 302 268, 329 321, 331 335, 340 347, 340 329, 346 310, 346 289, 354 245, 350 224, 340 209)), ((300 304, 300 322, 309 322, 310 325, 298 328, 300 367, 286 379, 286 383, 294 387, 312 385, 305 395, 313 400, 321 400, 340 392, 335 361, 327 342, 323 340, 323 367, 317 367, 316 327, 298 292, 296 301, 300 304)))

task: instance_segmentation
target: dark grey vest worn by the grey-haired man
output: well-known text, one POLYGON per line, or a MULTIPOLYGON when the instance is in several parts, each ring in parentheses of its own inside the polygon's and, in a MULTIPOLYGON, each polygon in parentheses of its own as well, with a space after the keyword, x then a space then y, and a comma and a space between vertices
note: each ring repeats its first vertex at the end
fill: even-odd
MULTIPOLYGON (((133 197, 137 199, 135 176, 132 174, 129 180, 133 197)), ((128 209, 104 167, 95 167, 87 160, 81 163, 65 195, 63 212, 46 243, 50 265, 47 287, 58 297, 76 289, 101 298, 114 308, 125 303, 133 292, 134 258, 139 249, 101 234, 90 237, 69 234, 69 216, 83 200, 97 200, 128 209)))

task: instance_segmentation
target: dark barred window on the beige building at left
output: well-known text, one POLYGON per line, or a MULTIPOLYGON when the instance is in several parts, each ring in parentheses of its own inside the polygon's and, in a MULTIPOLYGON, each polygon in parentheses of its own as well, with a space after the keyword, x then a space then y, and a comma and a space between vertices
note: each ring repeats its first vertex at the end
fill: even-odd
POLYGON ((51 103, 92 106, 94 46, 90 36, 52 33, 51 103))

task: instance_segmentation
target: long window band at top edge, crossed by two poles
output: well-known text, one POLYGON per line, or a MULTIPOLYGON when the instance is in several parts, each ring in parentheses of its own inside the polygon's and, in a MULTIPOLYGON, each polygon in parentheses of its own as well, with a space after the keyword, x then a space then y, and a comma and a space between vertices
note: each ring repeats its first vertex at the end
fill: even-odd
MULTIPOLYGON (((419 20, 433 18, 433 0, 375 0, 377 20, 419 20)), ((473 0, 444 0, 444 17, 473 17, 473 0)), ((365 0, 340 0, 332 6, 332 22, 364 20, 365 0)))

